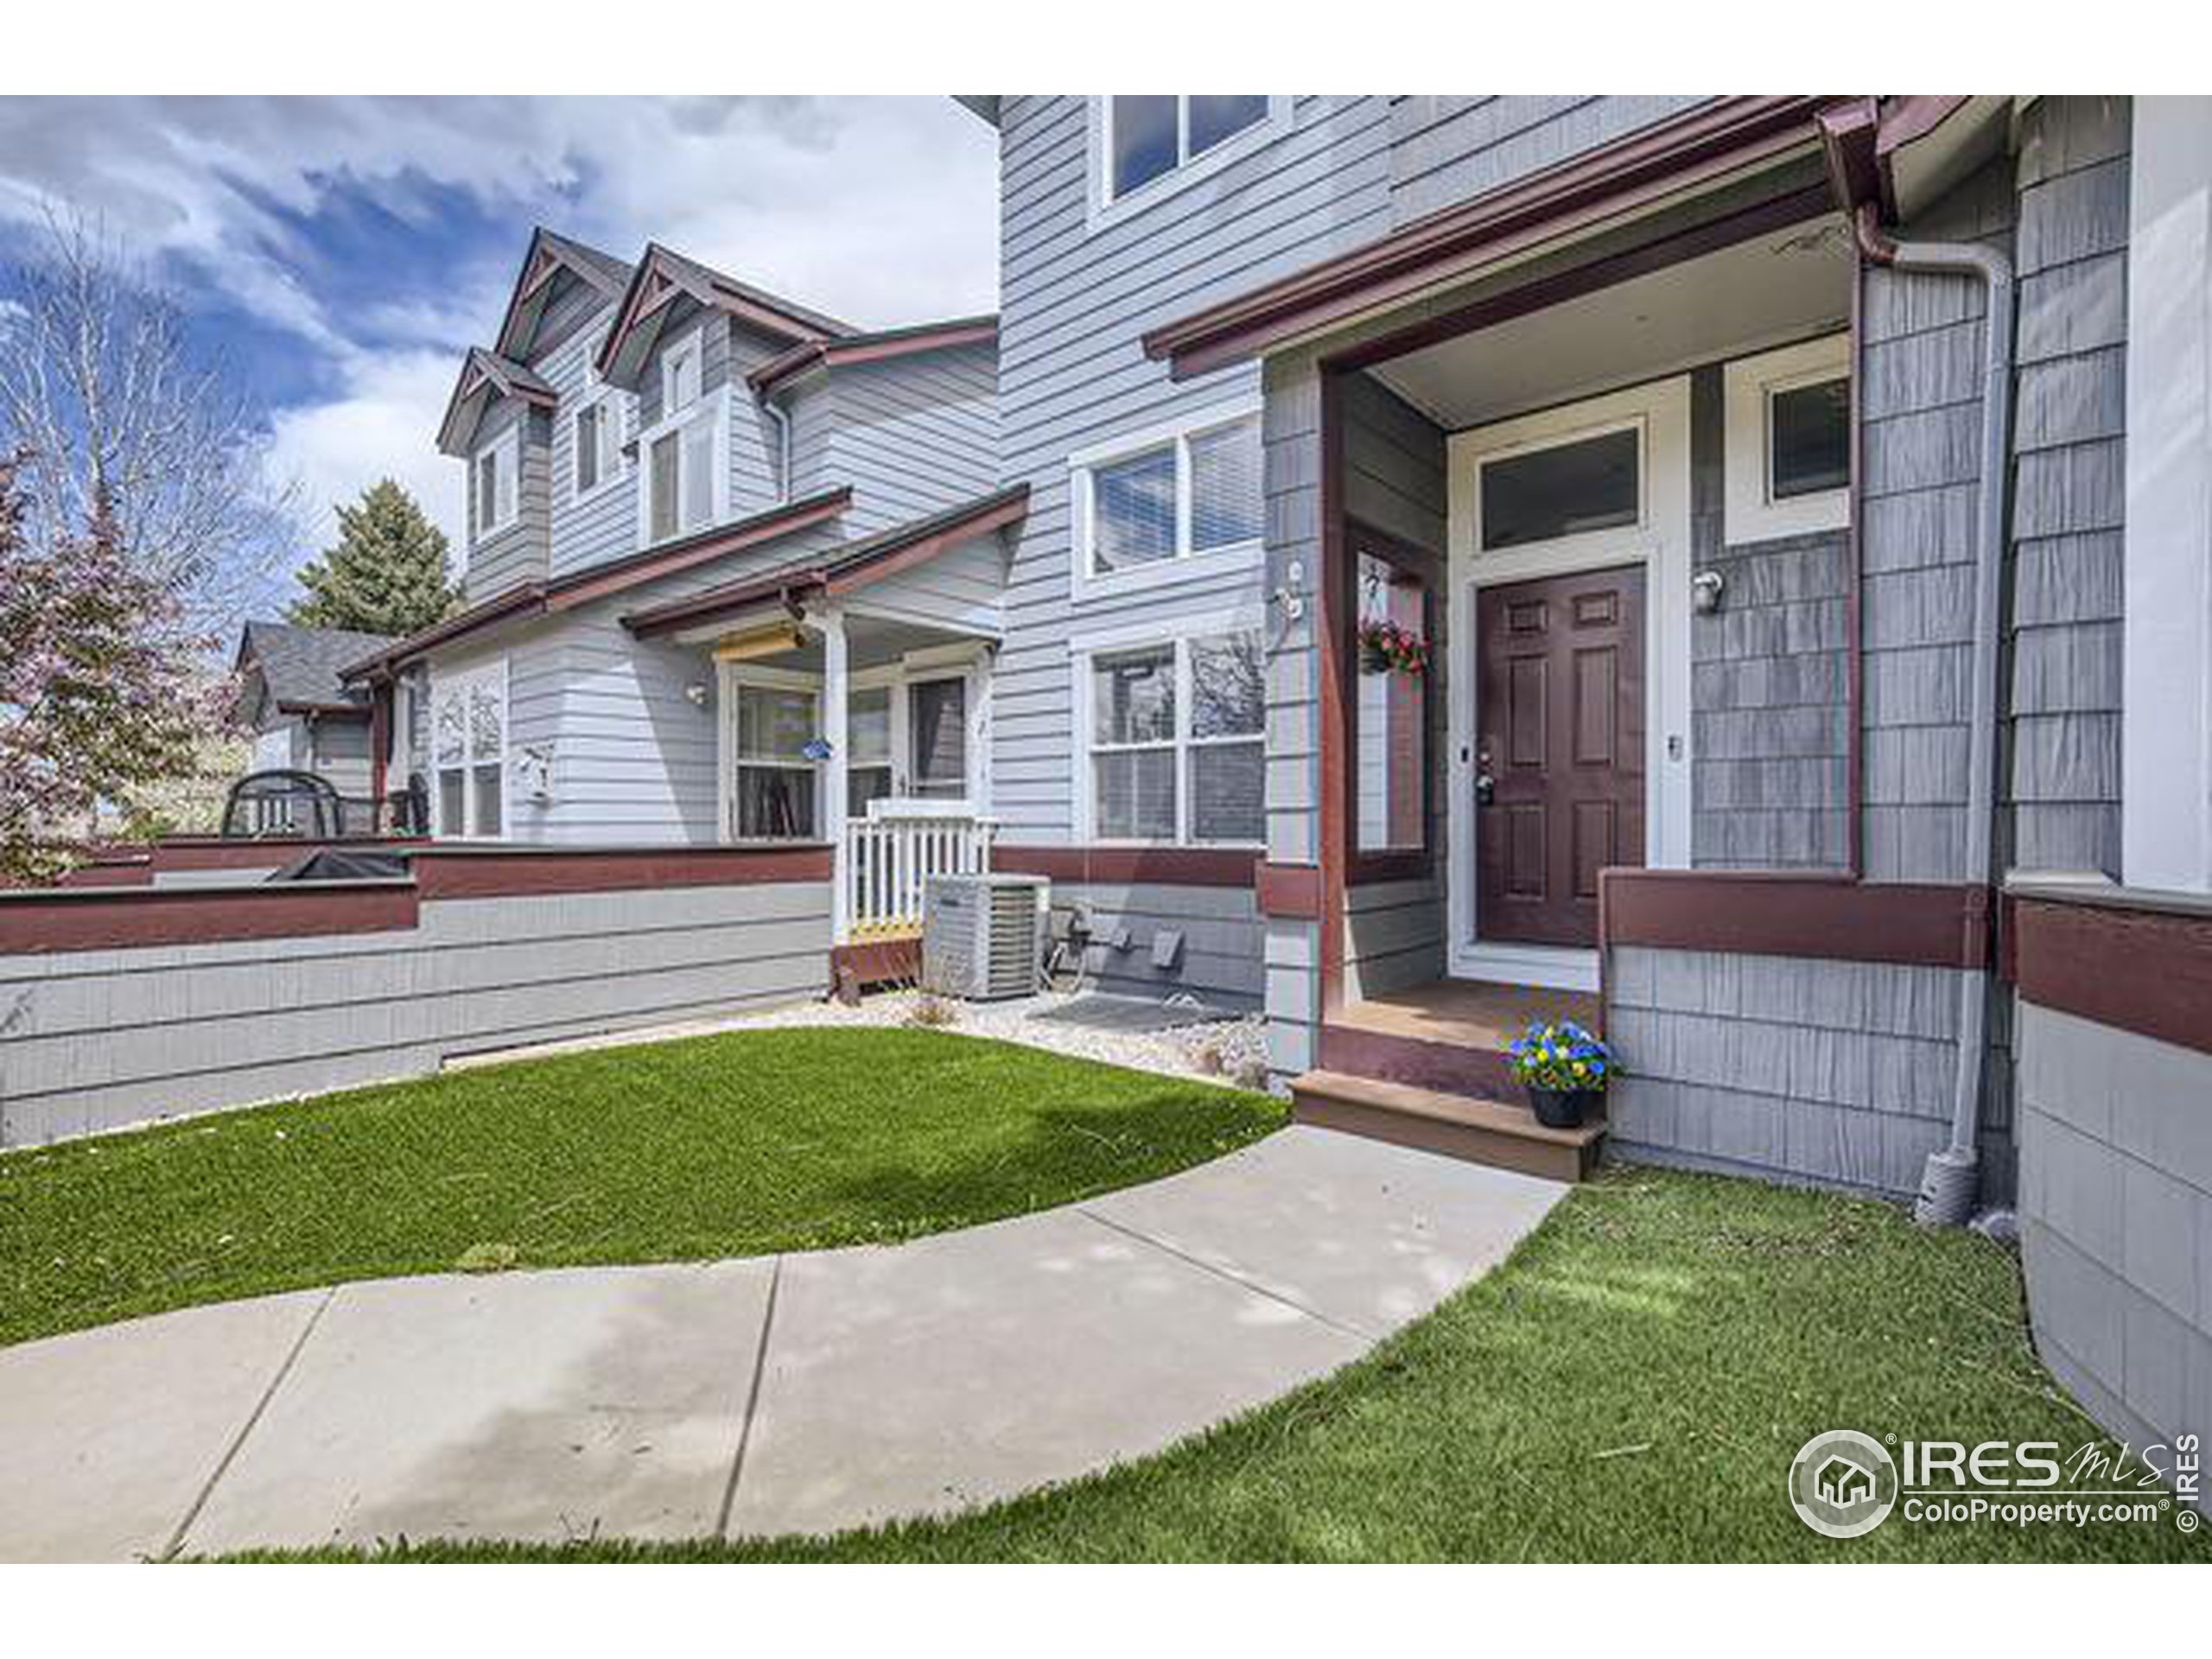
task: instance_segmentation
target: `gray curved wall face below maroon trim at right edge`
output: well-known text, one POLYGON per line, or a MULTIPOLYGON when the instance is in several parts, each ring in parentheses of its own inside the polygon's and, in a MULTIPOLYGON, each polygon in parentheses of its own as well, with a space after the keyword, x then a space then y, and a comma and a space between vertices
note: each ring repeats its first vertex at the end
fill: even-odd
POLYGON ((2020 1243, 2044 1363, 2137 1447, 2212 1431, 2212 1055, 2022 1002, 2020 1243))

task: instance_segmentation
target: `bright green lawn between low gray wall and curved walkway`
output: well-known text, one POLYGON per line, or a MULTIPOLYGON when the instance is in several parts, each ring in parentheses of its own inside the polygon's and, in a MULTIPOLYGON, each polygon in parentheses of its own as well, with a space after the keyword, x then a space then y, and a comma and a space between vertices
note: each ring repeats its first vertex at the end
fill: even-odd
POLYGON ((911 1239, 1150 1181, 1283 1108, 940 1031, 741 1031, 0 1157, 0 1343, 462 1259, 911 1239))

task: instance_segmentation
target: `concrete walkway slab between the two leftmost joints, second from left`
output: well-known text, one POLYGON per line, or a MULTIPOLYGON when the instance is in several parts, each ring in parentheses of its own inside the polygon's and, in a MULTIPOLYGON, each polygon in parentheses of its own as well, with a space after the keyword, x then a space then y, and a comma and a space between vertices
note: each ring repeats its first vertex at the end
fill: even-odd
POLYGON ((184 1548, 712 1533, 772 1272, 345 1285, 184 1548))

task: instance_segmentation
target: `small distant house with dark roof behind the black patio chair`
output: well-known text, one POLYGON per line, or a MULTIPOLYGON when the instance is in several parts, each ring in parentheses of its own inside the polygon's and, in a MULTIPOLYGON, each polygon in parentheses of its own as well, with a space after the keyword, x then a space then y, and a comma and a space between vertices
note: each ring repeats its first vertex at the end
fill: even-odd
POLYGON ((254 734, 248 770, 316 772, 343 796, 374 799, 380 792, 376 699, 341 679, 341 670, 389 644, 383 635, 347 628, 248 622, 232 661, 239 719, 254 734))

